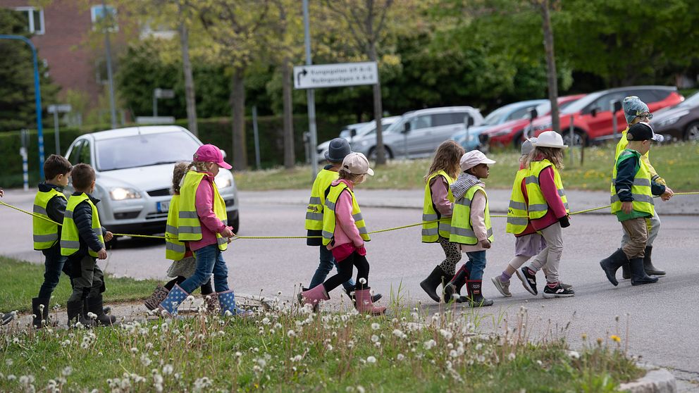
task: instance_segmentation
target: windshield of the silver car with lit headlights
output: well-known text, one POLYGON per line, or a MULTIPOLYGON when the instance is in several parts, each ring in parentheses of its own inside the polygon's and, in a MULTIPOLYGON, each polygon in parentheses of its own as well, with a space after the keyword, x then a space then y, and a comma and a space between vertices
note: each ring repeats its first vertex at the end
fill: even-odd
POLYGON ((199 144, 185 132, 163 132, 99 140, 95 147, 97 170, 105 171, 192 161, 199 144))

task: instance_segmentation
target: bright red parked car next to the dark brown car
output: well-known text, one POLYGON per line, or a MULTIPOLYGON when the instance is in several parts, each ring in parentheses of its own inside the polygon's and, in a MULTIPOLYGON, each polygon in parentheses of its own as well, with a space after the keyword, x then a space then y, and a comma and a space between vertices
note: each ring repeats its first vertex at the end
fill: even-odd
MULTIPOLYGON (((575 101, 560 112, 561 131, 566 144, 590 144, 604 139, 611 139, 626 128, 624 111, 617 111, 617 130, 612 127, 612 101, 624 101, 626 96, 638 96, 648 104, 651 112, 673 106, 683 101, 684 97, 674 86, 629 86, 590 93, 575 101), (573 132, 569 133, 571 117, 573 132), (571 142, 572 141, 572 142, 571 142)), ((551 116, 543 116, 533 123, 533 135, 552 130, 551 116)))

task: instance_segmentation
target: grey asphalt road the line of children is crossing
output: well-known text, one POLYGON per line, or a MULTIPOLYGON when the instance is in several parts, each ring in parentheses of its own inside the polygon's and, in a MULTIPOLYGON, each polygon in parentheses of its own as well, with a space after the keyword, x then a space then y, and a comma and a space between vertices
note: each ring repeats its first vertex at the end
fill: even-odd
MULTIPOLYGON (((285 192, 274 192, 280 200, 285 192)), ((245 236, 305 235, 303 204, 273 204, 273 199, 241 194, 241 231, 245 236), (247 198, 246 198, 247 196, 247 198)), ((3 201, 30 209, 33 194, 13 190, 3 201)), ((358 193, 361 205, 361 192, 358 193)), ((362 209, 369 230, 416 223, 421 211, 415 208, 362 209)), ((492 325, 503 315, 512 321, 524 306, 528 310, 528 327, 533 337, 544 337, 552 328, 569 328, 565 335, 573 347, 580 347, 581 336, 588 341, 619 334, 622 348, 628 339, 629 353, 641 356, 653 365, 673 368, 678 378, 699 380, 699 218, 697 216, 661 216, 662 230, 653 251, 657 266, 667 270, 657 284, 631 287, 621 280, 612 287, 600 269, 599 261, 618 247, 621 225, 608 215, 579 215, 564 230, 565 250, 561 277, 574 285, 576 296, 568 299, 533 297, 521 287, 516 277, 512 281, 511 298, 503 298, 490 283, 490 277, 500 273, 514 251, 514 237, 505 233, 505 220, 494 218, 495 243, 488 251, 483 293, 495 299, 495 306, 484 308, 483 323, 492 325), (629 337, 626 337, 626 319, 629 337), (616 317, 619 316, 619 323, 616 317)), ((35 263, 42 255, 32 250, 31 219, 22 213, 0 206, 0 254, 35 263)), ((371 263, 369 283, 384 294, 382 304, 388 304, 393 290, 413 304, 422 304, 428 311, 438 306, 419 287, 443 254, 438 244, 422 244, 419 227, 373 235, 366 246, 371 263)), ((307 285, 317 265, 318 249, 307 247, 304 239, 257 240, 238 239, 224 254, 230 270, 229 282, 240 293, 268 296, 278 291, 292 297, 299 282, 307 285)), ((462 259, 462 261, 464 261, 462 259)), ((136 278, 165 279, 169 261, 158 240, 120 239, 118 247, 109 251, 101 266, 114 275, 136 278)), ((619 276, 621 273, 619 273, 619 276)), ((543 275, 539 275, 543 282, 543 275)), ((541 289, 541 285, 540 285, 541 289)), ((339 289, 331 292, 334 299, 342 297, 339 289)))

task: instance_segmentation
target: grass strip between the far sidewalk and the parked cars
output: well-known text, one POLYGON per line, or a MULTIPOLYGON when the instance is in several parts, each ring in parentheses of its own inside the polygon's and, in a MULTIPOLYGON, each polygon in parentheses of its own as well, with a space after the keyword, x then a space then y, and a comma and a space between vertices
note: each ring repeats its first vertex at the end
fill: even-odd
MULTIPOLYGON (((563 183, 567 189, 609 191, 614 145, 588 147, 580 163, 580 149, 573 149, 574 163, 564 160, 563 183)), ((519 154, 514 150, 488 154, 497 163, 490 166, 488 187, 509 189, 514 174, 519 168, 519 154)), ((653 146, 650 161, 667 184, 675 192, 696 191, 699 177, 696 176, 696 159, 699 144, 683 142, 653 146)), ((362 188, 366 189, 422 189, 423 176, 430 166, 429 160, 395 160, 376 168, 376 175, 369 177, 362 188)), ((264 191, 271 189, 310 189, 312 184, 309 166, 298 166, 292 170, 276 168, 235 174, 237 187, 242 190, 264 191)))

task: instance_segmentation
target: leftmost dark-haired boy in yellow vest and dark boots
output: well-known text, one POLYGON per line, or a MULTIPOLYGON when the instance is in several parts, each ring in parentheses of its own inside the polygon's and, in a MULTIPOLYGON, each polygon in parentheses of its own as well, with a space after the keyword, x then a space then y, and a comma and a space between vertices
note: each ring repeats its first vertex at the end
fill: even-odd
POLYGON ((44 282, 39 288, 39 294, 32 299, 32 325, 42 328, 49 323, 49 301, 51 294, 58 285, 61 271, 68 274, 66 257, 61 255, 61 226, 63 214, 66 213, 68 199, 63 195, 63 187, 68 185, 68 177, 73 166, 62 156, 51 154, 44 161, 44 176, 46 181, 39 183, 39 191, 34 198, 34 249, 44 254, 44 282), (39 216, 39 217, 37 217, 39 216))

